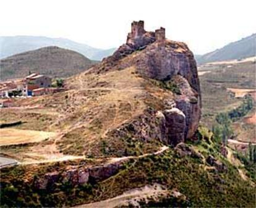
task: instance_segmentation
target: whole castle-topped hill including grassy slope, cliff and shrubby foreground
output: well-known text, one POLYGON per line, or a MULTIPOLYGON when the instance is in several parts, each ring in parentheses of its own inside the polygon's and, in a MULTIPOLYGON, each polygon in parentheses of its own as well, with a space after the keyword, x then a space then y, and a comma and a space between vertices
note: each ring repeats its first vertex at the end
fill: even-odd
POLYGON ((13 134, 50 135, 5 140, 1 153, 20 164, 1 169, 1 205, 254 205, 250 173, 200 126, 194 55, 167 40, 164 28, 145 31, 143 21, 133 22, 113 56, 64 87, 1 109, 3 123, 22 120, 13 134))

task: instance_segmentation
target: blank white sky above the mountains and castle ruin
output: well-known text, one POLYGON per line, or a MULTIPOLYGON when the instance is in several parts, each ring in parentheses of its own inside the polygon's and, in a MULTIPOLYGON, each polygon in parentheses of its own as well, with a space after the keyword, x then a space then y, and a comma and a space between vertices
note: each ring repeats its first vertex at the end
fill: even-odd
POLYGON ((0 36, 68 38, 95 48, 125 43, 130 23, 205 54, 256 33, 255 0, 0 0, 0 36))

